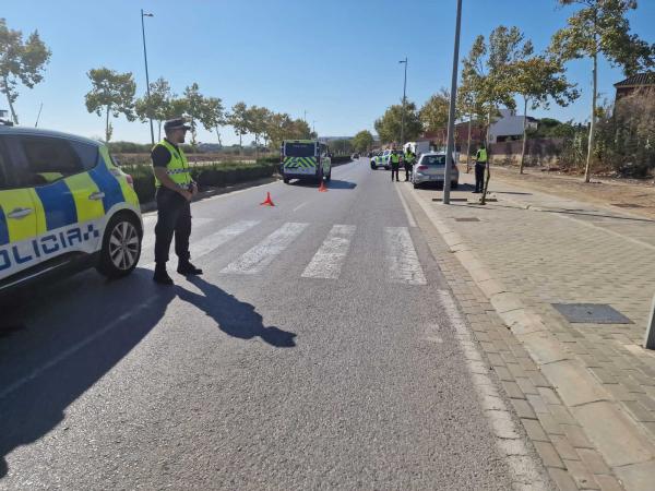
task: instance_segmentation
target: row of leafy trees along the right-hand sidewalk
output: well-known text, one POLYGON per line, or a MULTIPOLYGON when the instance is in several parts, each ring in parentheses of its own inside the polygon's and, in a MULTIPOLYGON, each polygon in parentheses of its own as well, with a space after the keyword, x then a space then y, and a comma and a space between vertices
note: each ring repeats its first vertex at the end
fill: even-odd
MULTIPOLYGON (((636 0, 556 2, 562 8, 577 5, 579 9, 568 19, 567 26, 552 35, 550 45, 544 52, 535 52, 533 43, 515 26, 501 25, 491 31, 487 38, 480 35, 475 39, 462 62, 456 113, 458 119, 469 121, 471 143, 472 121, 477 121, 486 129, 489 140, 489 127, 499 109, 515 109, 516 99, 523 103, 524 133, 520 166, 520 171, 523 172, 528 109, 548 108, 552 101, 567 106, 577 99, 580 92, 567 80, 565 64, 574 59, 588 58, 593 82, 585 149, 585 181, 588 182, 594 157, 597 158, 600 152, 608 155, 607 142, 604 142, 604 148, 595 144, 596 121, 602 116, 598 110, 598 60, 604 57, 610 64, 620 67, 626 75, 631 75, 653 68, 655 45, 648 45, 630 32, 627 14, 638 8, 636 0)), ((448 123, 449 99, 450 94, 442 88, 420 109, 414 103, 406 101, 406 139, 412 140, 424 131, 444 128, 448 123)), ((382 142, 398 141, 402 111, 402 104, 391 106, 376 121, 376 130, 382 142)), ((644 120, 647 118, 644 117, 644 120)))

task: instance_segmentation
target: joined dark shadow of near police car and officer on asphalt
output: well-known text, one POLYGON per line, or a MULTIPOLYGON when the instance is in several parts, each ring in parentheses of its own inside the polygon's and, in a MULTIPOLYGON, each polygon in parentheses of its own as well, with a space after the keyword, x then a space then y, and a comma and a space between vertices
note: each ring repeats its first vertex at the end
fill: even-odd
MULTIPOLYGON (((202 278, 191 279, 199 295, 157 287, 151 275, 136 270, 105 283, 85 273, 32 290, 31 300, 12 309, 17 331, 0 338, 0 488, 9 472, 5 456, 60 424, 70 404, 157 326, 176 297, 203 310, 230 336, 296 346, 294 333, 265 327, 253 306, 202 278)), ((2 316, 8 313, 3 308, 2 316)))

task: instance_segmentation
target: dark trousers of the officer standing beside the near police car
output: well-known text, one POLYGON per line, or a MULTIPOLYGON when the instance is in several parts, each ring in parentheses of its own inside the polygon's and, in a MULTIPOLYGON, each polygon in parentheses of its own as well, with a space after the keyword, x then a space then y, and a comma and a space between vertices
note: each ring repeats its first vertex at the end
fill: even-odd
POLYGON ((166 264, 175 233, 175 253, 188 261, 191 236, 191 204, 179 193, 157 189, 157 225, 155 226, 155 262, 166 264))

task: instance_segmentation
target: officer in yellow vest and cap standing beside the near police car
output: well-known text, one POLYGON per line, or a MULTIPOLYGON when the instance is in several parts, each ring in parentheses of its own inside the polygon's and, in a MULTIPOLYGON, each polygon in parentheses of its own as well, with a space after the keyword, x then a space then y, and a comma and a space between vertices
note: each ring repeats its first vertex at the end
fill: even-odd
POLYGON ((153 279, 162 285, 172 285, 166 272, 168 251, 175 235, 175 253, 178 256, 177 272, 181 275, 201 275, 189 259, 189 237, 191 236, 191 199, 198 193, 198 185, 191 179, 189 163, 182 149, 184 136, 190 127, 182 118, 164 123, 166 137, 152 151, 155 185, 157 188, 157 225, 155 226, 155 275, 153 279))

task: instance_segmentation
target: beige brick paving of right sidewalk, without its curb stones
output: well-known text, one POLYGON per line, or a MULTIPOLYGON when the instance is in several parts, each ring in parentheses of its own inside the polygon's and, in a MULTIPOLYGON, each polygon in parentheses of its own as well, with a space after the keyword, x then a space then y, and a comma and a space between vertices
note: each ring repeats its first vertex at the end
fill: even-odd
POLYGON ((455 204, 441 213, 655 439, 655 352, 642 348, 655 294, 655 220, 517 189, 498 176, 490 189, 497 203, 455 204), (453 219, 464 216, 480 221, 453 219), (572 324, 551 306, 572 302, 607 303, 633 323, 572 324))

